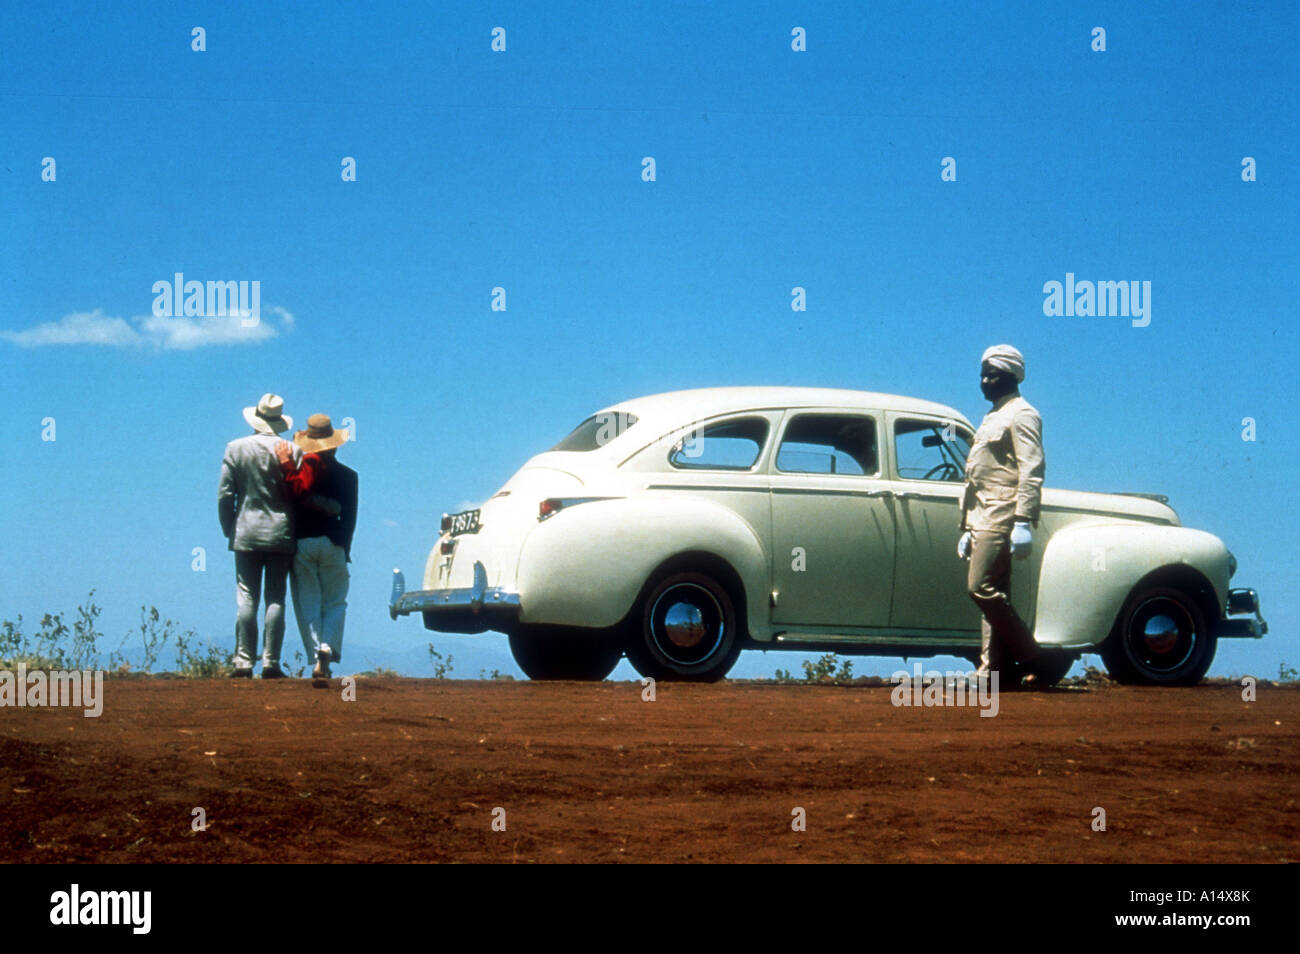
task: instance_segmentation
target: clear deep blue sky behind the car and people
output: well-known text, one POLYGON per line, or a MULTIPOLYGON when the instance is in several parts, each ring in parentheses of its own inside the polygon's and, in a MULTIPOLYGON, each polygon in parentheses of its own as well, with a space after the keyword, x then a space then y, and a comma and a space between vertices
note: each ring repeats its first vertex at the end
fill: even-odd
MULTIPOLYGON (((1297 32, 1280 3, 9 5, 0 616, 94 587, 110 646, 142 603, 233 643, 221 451, 276 391, 355 421, 350 662, 421 672, 391 568, 598 407, 776 383, 978 420, 1009 341, 1048 485, 1165 493, 1221 535, 1273 632, 1212 672, 1274 676, 1300 662, 1297 32), (150 330, 177 272, 259 281, 256 334, 150 330), (1067 272, 1152 282, 1150 324, 1045 316, 1067 272)), ((503 637, 434 641, 517 672, 503 637)))

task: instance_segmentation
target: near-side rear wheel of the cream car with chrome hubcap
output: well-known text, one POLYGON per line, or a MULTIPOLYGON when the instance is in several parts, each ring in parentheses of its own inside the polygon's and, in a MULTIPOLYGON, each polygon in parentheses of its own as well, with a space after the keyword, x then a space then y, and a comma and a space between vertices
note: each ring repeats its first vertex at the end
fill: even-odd
POLYGON ((736 607, 705 573, 672 573, 650 587, 633 616, 628 660, 642 676, 716 682, 740 655, 736 607))

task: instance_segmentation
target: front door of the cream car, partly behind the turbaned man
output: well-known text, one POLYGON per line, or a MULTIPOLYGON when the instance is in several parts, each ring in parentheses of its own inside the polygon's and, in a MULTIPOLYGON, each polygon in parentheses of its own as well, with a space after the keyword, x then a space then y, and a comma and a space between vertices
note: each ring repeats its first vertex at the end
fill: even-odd
POLYGON ((924 415, 889 415, 896 480, 894 598, 900 629, 978 630, 966 593, 968 563, 957 556, 966 454, 965 424, 924 415))

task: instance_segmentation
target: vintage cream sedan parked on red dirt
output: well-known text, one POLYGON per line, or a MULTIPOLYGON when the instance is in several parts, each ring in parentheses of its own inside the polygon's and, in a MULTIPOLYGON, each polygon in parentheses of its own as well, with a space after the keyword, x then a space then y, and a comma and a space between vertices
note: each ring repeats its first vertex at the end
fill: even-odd
MULTIPOLYGON (((976 659, 958 559, 974 428, 913 398, 715 387, 606 408, 480 508, 447 513, 393 619, 510 636, 532 678, 718 680, 744 649, 976 659)), ((1067 450, 1057 445, 1057 454, 1067 450)), ((1013 602, 1052 682, 1100 651, 1127 682, 1199 681, 1268 632, 1236 560, 1154 494, 1044 489, 1013 602)))

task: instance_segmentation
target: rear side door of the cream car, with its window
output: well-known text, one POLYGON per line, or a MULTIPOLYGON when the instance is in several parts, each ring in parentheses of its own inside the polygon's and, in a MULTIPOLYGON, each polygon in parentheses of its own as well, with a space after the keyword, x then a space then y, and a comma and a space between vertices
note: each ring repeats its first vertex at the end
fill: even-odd
POLYGON ((889 623, 894 526, 880 433, 879 413, 786 413, 771 463, 774 623, 889 623))

